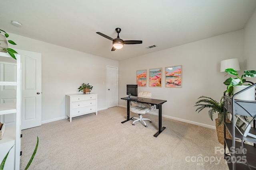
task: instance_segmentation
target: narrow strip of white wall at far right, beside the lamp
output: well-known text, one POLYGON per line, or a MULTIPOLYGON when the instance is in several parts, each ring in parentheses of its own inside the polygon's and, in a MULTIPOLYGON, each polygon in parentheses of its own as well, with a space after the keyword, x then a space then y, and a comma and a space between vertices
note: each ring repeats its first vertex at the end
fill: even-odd
MULTIPOLYGON (((244 28, 244 57, 246 69, 256 70, 256 10, 246 23, 244 28)), ((246 80, 248 80, 246 78, 246 80)), ((252 79, 251 79, 252 80, 252 79)), ((256 78, 253 78, 256 82, 256 78)))

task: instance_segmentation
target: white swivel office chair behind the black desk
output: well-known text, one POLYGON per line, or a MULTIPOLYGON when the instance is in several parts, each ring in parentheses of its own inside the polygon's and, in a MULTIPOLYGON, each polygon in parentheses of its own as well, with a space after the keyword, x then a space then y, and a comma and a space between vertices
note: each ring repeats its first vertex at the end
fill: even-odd
MULTIPOLYGON (((151 92, 139 92, 138 97, 142 97, 142 98, 151 98, 152 94, 151 92)), ((152 123, 152 121, 150 119, 146 119, 142 117, 142 114, 146 114, 150 111, 150 104, 145 104, 145 103, 140 103, 140 102, 134 102, 136 103, 136 106, 131 107, 130 111, 132 111, 133 113, 138 113, 140 117, 133 117, 132 121, 134 119, 137 119, 135 121, 132 122, 132 125, 134 125, 134 123, 136 121, 142 121, 145 125, 145 127, 148 127, 146 122, 144 120, 149 120, 150 123, 152 123)))

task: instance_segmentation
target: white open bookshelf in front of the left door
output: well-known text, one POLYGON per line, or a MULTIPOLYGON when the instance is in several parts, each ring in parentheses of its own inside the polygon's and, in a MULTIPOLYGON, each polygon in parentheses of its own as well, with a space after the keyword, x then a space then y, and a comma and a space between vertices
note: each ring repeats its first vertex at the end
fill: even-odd
MULTIPOLYGON (((15 56, 16 60, 10 57, 8 53, 0 52, 0 64, 8 64, 8 62, 16 63, 16 82, 0 80, 0 88, 4 86, 16 86, 16 102, 0 104, 0 116, 10 113, 16 114, 15 126, 5 126, 3 139, 0 140, 0 162, 2 162, 10 148, 14 146, 6 159, 4 170, 20 169, 21 64, 20 55, 16 54, 15 56)), ((0 74, 3 74, 2 70, 0 74)), ((0 98, 0 100, 2 100, 2 98, 0 98)))

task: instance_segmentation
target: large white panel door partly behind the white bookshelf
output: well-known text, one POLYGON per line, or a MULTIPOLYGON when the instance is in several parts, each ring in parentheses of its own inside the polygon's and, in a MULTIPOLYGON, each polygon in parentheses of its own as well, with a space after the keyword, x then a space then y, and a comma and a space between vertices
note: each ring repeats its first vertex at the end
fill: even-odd
MULTIPOLYGON (((23 130, 41 125, 41 54, 20 49, 15 50, 21 55, 21 129, 23 130)), ((0 63, 0 81, 16 81, 16 64, 0 63)), ((0 103, 9 102, 16 102, 16 86, 1 86, 0 103)), ((6 126, 14 126, 16 114, 1 115, 0 122, 6 123, 6 126)))

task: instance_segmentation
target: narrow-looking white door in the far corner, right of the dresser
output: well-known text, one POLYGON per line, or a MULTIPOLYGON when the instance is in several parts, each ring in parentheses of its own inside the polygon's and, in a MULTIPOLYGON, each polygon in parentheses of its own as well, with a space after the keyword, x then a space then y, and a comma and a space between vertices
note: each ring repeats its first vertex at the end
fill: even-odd
POLYGON ((118 105, 118 68, 107 66, 107 107, 118 105))

